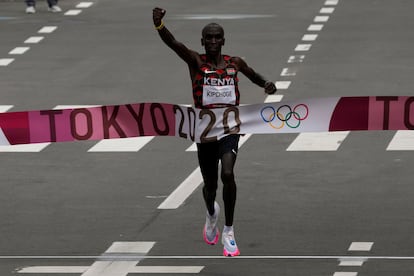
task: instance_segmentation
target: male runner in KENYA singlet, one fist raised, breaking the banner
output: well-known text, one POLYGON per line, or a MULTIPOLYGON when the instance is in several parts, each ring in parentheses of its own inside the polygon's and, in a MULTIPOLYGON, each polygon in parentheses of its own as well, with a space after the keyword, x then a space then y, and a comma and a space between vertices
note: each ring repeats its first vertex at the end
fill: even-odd
MULTIPOLYGON (((201 45, 205 48, 205 54, 199 54, 174 38, 162 21, 165 13, 166 11, 161 8, 153 9, 154 26, 165 44, 187 63, 196 108, 239 105, 240 94, 237 78, 239 71, 253 83, 264 88, 265 93, 273 94, 276 92, 275 84, 266 81, 257 74, 243 59, 221 54, 225 39, 224 30, 220 25, 210 23, 203 28, 201 45)), ((233 168, 236 162, 238 142, 239 135, 231 134, 219 141, 197 144, 198 160, 204 180, 203 196, 207 207, 203 237, 205 242, 211 245, 216 244, 219 239, 217 221, 220 207, 215 198, 220 160, 225 213, 225 226, 222 233, 223 254, 229 257, 240 255, 233 229, 237 191, 233 168)))

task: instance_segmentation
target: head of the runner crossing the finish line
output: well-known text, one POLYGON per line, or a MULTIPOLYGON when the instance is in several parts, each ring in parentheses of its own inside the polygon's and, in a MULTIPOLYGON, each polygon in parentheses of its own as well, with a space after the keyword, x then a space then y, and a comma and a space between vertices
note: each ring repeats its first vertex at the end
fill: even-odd
POLYGON ((201 45, 206 53, 220 53, 224 45, 224 29, 217 23, 207 24, 201 32, 201 45))

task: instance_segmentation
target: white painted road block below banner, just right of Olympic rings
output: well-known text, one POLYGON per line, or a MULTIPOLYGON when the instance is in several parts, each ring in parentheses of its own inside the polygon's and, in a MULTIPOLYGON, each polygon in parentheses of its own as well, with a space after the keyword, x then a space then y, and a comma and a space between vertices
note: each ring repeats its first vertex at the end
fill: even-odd
POLYGON ((349 131, 300 133, 286 151, 336 151, 349 131))

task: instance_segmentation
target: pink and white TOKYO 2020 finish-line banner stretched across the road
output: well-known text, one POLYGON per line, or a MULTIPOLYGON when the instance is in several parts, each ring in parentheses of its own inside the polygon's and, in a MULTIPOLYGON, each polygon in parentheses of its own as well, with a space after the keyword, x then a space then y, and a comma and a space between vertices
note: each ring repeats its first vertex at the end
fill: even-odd
POLYGON ((0 113, 0 145, 175 136, 210 142, 229 134, 414 129, 414 97, 314 98, 196 109, 137 103, 0 113))

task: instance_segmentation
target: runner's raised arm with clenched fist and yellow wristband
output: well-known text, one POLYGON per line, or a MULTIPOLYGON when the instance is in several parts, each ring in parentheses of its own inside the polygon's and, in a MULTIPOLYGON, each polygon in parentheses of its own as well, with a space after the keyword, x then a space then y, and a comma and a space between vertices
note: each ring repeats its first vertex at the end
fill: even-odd
POLYGON ((161 8, 154 8, 152 10, 152 19, 154 21, 155 29, 157 29, 162 41, 167 44, 177 55, 183 59, 188 65, 193 65, 196 62, 197 52, 188 49, 183 43, 177 41, 172 33, 165 27, 162 19, 166 11, 161 8))

